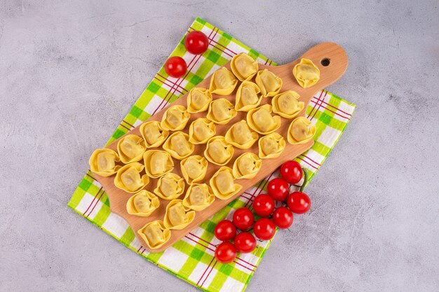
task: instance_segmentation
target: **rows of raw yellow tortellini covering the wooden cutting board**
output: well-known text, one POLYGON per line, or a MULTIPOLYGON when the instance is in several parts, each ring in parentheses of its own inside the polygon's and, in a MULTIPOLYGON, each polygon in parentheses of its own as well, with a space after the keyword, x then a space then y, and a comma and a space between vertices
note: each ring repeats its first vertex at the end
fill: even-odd
MULTIPOLYGON (((309 62, 305 62, 307 66, 309 62)), ((303 87, 313 82, 297 81, 303 87)), ((231 71, 225 67, 215 71, 209 88, 189 91, 187 106, 170 106, 161 122, 143 123, 142 137, 126 134, 119 139, 117 152, 108 148, 94 151, 90 170, 100 176, 114 176, 117 188, 133 194, 126 204, 128 214, 147 217, 160 205, 158 198, 170 201, 163 220, 151 221, 138 230, 150 249, 158 249, 170 238, 170 230, 185 228, 196 211, 208 207, 215 198, 226 200, 238 193, 242 186, 234 182, 236 179, 254 178, 263 159, 281 155, 285 139, 276 130, 282 118, 294 118, 287 134, 290 144, 303 144, 313 138, 316 127, 304 117, 295 118, 304 109, 299 95, 292 90, 281 92, 281 88, 281 78, 267 69, 259 71, 252 57, 236 55, 231 60, 231 71), (213 97, 231 95, 237 86, 235 103, 213 97), (271 103, 259 106, 264 98, 270 98, 271 103), (231 124, 224 136, 215 135, 215 127, 228 124, 238 111, 247 112, 246 119, 231 124), (190 123, 187 133, 182 132, 193 113, 204 115, 190 123), (256 142, 258 155, 245 152, 234 160, 233 167, 226 166, 234 156, 234 148, 248 149, 256 142), (205 145, 204 155, 192 155, 198 144, 205 145), (206 183, 209 163, 219 167, 206 183), (180 167, 183 177, 173 173, 175 167, 180 167), (156 179, 152 192, 144 190, 150 179, 156 179)))

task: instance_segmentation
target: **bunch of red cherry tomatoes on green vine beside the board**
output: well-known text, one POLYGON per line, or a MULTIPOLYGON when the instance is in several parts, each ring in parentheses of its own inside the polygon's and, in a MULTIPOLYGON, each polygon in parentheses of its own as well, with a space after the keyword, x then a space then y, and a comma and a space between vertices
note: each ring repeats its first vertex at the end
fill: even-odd
POLYGON ((276 226, 281 229, 289 228, 292 225, 293 213, 304 214, 311 207, 311 200, 302 192, 306 179, 306 172, 298 162, 285 162, 281 166, 281 178, 269 182, 268 194, 258 195, 253 200, 253 210, 261 218, 255 221, 252 211, 243 207, 235 211, 232 221, 223 220, 216 225, 215 237, 222 240, 222 243, 215 250, 215 258, 220 263, 231 263, 237 252, 251 253, 256 248, 255 237, 269 240, 273 238, 276 226), (296 185, 303 176, 300 191, 290 194, 290 184, 296 185), (283 202, 285 206, 275 209, 275 201, 283 202), (250 233, 251 228, 255 236, 250 233), (236 229, 242 232, 236 234, 236 229), (233 244, 230 242, 232 240, 233 244))

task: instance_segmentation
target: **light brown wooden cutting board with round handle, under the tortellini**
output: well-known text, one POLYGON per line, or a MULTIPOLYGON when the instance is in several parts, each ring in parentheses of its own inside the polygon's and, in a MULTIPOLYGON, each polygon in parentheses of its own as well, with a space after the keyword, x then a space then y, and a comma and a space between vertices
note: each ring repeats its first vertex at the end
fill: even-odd
MULTIPOLYGON (((283 86, 282 86, 281 92, 284 92, 286 90, 294 90, 297 93, 299 93, 299 95, 300 95, 299 100, 301 102, 304 102, 305 106, 304 106, 304 109, 297 116, 304 116, 305 111, 306 111, 306 105, 311 100, 311 98, 316 94, 316 92, 318 92, 319 90, 322 90, 323 88, 326 88, 328 85, 337 81, 337 79, 339 79, 344 74, 344 71, 346 71, 347 66, 348 66, 348 56, 346 55, 346 52, 344 51, 344 49, 342 47, 338 46, 335 43, 320 43, 317 46, 314 46, 313 48, 308 50, 306 53, 304 53, 304 55, 302 55, 297 60, 295 60, 291 63, 285 64, 282 66, 267 66, 267 65, 259 64, 259 70, 269 69, 269 71, 272 71, 274 74, 276 74, 277 76, 282 78, 283 86), (295 67, 295 64, 299 63, 302 58, 310 59, 314 64, 316 64, 318 69, 320 69, 320 80, 318 81, 318 83, 311 86, 311 88, 302 88, 295 80, 295 77, 292 75, 292 68, 295 67)), ((226 67, 227 69, 230 70, 230 62, 225 64, 224 67, 226 67)), ((254 82, 254 78, 252 79, 252 81, 254 82)), ((201 83, 199 83, 196 87, 209 88, 209 83, 210 83, 210 76, 208 78, 205 78, 205 80, 201 81, 201 83)), ((236 89, 234 90, 234 92, 231 95, 220 96, 220 95, 214 94, 213 99, 224 97, 224 98, 229 99, 229 101, 231 101, 232 104, 235 104, 235 93, 236 93, 236 90, 238 89, 238 86, 239 86, 239 84, 236 86, 236 89)), ((182 97, 177 99, 177 101, 175 101, 172 105, 181 104, 181 105, 187 106, 186 96, 187 96, 187 94, 183 95, 182 97)), ((259 106, 262 106, 263 104, 266 104, 267 102, 270 102, 270 104, 271 104, 271 97, 262 98, 262 102, 261 102, 261 104, 259 104, 259 106)), ((162 111, 159 111, 158 113, 154 114, 154 116, 151 116, 151 118, 149 118, 149 120, 161 121, 163 113, 165 113, 165 111, 167 109, 168 109, 168 107, 166 107, 162 111)), ((191 122, 196 120, 196 118, 205 117, 206 114, 207 114, 207 111, 205 111, 203 113, 191 114, 191 118, 189 119, 189 123, 187 123, 187 127, 185 127, 184 130, 182 130, 182 132, 187 133, 191 122)), ((229 127, 232 124, 234 124, 240 120, 245 119, 246 116, 247 116, 246 112, 238 111, 238 114, 236 115, 236 117, 233 118, 227 125, 215 125, 216 126, 216 135, 225 136, 227 130, 229 130, 229 127)), ((288 132, 288 127, 289 127, 291 121, 292 121, 292 119, 282 118, 281 127, 276 131, 279 134, 281 134, 286 141, 285 150, 283 151, 283 153, 281 154, 280 157, 273 158, 273 159, 263 159, 262 160, 262 167, 259 170, 259 172, 257 173, 257 176, 255 176, 255 178, 235 180, 235 183, 239 183, 239 184, 241 184, 241 186, 243 186, 243 188, 241 188, 241 190, 238 193, 236 193, 232 197, 229 197, 229 199, 227 199, 227 200, 219 200, 218 198, 215 198, 215 202, 212 202, 212 204, 209 207, 207 207, 203 211, 196 212, 196 216, 194 218, 194 221, 192 221, 189 225, 187 225, 186 228, 184 228, 182 230, 171 230, 171 236, 170 236, 169 241, 166 242, 166 244, 164 244, 163 246, 161 246, 161 248, 150 250, 150 251, 153 251, 153 252, 163 251, 163 250, 167 249, 169 246, 175 244, 175 242, 177 242, 182 237, 184 237, 184 235, 187 235, 187 233, 189 233, 194 228, 197 228, 198 225, 200 225, 207 218, 209 218, 210 216, 215 214, 217 211, 219 211, 219 209, 222 209, 224 206, 229 204, 229 202, 235 200, 236 197, 241 195, 245 190, 247 190, 251 186, 254 186, 258 181, 261 181, 266 176, 271 174, 283 162, 285 162, 287 160, 292 160, 293 158, 297 157, 298 155, 304 153, 306 150, 311 148, 311 146, 313 146, 312 140, 306 144, 299 144, 299 145, 291 145, 288 143, 287 132, 288 132)), ((140 126, 135 127, 133 130, 130 130, 130 132, 128 132, 127 134, 135 134, 135 135, 141 136, 139 127, 140 126)), ((261 136, 259 135, 259 137, 261 137, 261 136)), ((112 144, 107 146, 107 148, 110 148, 110 149, 117 152, 116 146, 117 146, 118 141, 119 140, 114 141, 112 144)), ((151 149, 158 149, 158 148, 151 148, 151 149)), ((196 145, 195 151, 191 155, 203 156, 204 150, 205 150, 205 144, 196 145)), ((232 168, 233 163, 236 160, 236 158, 238 158, 239 155, 241 155, 242 153, 245 153, 245 152, 252 152, 252 153, 255 153, 257 155, 259 152, 257 143, 255 143, 251 148, 246 149, 246 150, 241 150, 241 149, 238 149, 235 147, 234 148, 234 157, 230 160, 230 162, 226 166, 232 168)), ((173 172, 175 174, 178 174, 179 176, 183 177, 182 172, 180 171, 180 160, 176 160, 174 158, 173 158, 173 160, 174 160, 174 165, 175 165, 173 172)), ((143 160, 140 162, 142 163, 143 160)), ((205 179, 203 179, 203 181, 198 181, 198 183, 209 183, 210 178, 212 177, 213 174, 215 174, 217 169, 219 169, 219 166, 213 165, 212 163, 209 162, 207 173, 205 175, 205 179)), ((133 228, 135 235, 142 243, 142 246, 145 249, 148 249, 148 245, 137 234, 137 230, 142 228, 146 223, 148 223, 150 221, 163 220, 163 217, 166 213, 166 206, 168 205, 168 203, 170 201, 163 200, 163 199, 159 198, 160 206, 149 217, 139 217, 139 216, 130 215, 126 211, 126 202, 133 194, 126 193, 125 191, 120 190, 119 188, 116 188, 116 186, 114 186, 114 183, 113 183, 114 176, 104 177, 104 176, 100 176, 100 175, 95 174, 95 173, 93 173, 93 175, 95 176, 95 179, 97 179, 97 181, 99 181, 102 184, 102 186, 104 187, 104 190, 107 192, 107 195, 109 197, 109 202, 110 202, 110 209, 112 210, 112 212, 119 214, 119 216, 122 216, 123 218, 126 219, 126 221, 128 221, 131 228, 133 228)), ((158 181, 158 179, 150 179, 148 185, 144 189, 149 190, 151 193, 153 193, 154 188, 156 188, 157 181, 158 181)), ((188 187, 188 185, 186 186, 184 193, 186 192, 187 187, 188 187)), ((180 199, 182 199, 183 197, 184 197, 184 194, 181 195, 180 199)))

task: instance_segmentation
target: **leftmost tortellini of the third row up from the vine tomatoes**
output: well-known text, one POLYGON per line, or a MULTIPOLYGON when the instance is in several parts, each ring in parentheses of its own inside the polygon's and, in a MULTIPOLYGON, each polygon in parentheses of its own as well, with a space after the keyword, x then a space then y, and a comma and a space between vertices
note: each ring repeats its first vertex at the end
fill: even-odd
POLYGON ((140 175, 143 169, 144 165, 139 162, 124 165, 114 177, 114 186, 128 193, 137 193, 149 183, 147 174, 140 175))

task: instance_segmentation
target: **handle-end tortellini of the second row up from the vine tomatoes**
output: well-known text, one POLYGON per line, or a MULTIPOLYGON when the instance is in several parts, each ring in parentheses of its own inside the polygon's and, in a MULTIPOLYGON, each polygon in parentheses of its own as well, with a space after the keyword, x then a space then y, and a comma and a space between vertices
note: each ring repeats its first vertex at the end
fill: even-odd
POLYGON ((294 118, 304 109, 304 102, 299 102, 300 95, 292 90, 282 92, 271 99, 273 113, 283 118, 294 118))

